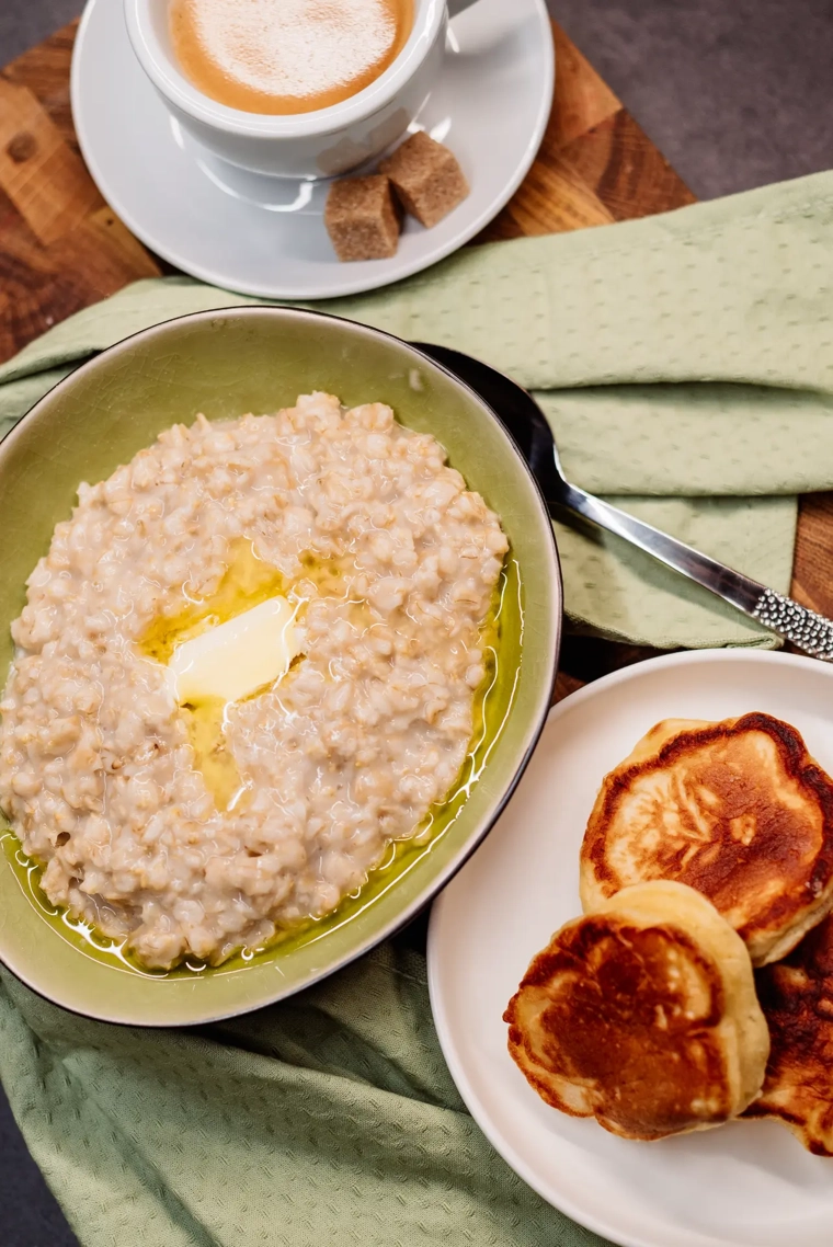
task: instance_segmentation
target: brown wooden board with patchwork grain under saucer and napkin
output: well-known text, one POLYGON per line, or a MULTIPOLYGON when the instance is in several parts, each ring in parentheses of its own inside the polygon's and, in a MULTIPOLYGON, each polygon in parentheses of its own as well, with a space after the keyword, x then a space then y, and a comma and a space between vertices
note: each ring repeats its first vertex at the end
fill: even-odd
MULTIPOLYGON (((128 282, 171 272, 105 203, 79 152, 70 112, 76 27, 0 72, 0 360, 128 282)), ((555 24, 554 37, 556 92, 541 150, 478 242, 604 226, 693 202, 555 24)), ((833 616, 833 495, 802 499, 792 591, 833 616)), ((559 695, 650 653, 567 638, 559 695)))

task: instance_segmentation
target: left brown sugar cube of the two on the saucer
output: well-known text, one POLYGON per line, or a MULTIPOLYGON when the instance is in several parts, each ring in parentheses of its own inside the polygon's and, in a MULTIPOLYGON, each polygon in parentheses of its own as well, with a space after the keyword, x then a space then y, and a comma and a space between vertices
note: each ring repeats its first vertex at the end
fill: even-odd
POLYGON ((380 173, 333 182, 324 224, 339 259, 387 259, 397 254, 399 212, 380 173))

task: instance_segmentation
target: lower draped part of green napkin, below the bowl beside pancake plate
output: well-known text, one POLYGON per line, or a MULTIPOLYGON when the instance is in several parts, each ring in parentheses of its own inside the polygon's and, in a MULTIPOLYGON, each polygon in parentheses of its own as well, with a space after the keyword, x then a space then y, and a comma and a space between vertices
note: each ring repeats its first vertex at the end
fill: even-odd
POLYGON ((465 1111, 413 951, 196 1034, 87 1023, 1 981, 6 1091, 84 1247, 602 1242, 465 1111))

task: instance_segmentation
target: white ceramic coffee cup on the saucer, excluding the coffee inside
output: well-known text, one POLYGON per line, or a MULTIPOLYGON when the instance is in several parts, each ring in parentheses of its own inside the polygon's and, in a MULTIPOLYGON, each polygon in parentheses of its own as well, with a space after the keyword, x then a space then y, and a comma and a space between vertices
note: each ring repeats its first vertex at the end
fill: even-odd
POLYGON ((443 66, 449 15, 474 0, 414 0, 414 26, 392 65, 363 91, 315 112, 243 112, 203 95, 180 69, 168 0, 125 0, 133 51, 180 125, 214 156, 274 177, 345 173, 393 143, 425 104, 443 66))

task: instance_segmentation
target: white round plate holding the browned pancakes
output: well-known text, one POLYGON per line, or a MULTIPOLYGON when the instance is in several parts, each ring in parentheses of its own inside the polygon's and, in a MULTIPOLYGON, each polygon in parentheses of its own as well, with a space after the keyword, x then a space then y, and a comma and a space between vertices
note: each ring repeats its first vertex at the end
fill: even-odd
POLYGON ((661 718, 766 711, 833 772, 833 667, 762 651, 641 662, 550 715, 518 792, 434 903, 436 1030, 474 1119, 562 1212, 624 1247, 831 1247, 833 1161, 781 1124, 731 1122, 655 1143, 616 1139, 532 1091, 501 1020, 532 955, 581 912, 579 848, 602 776, 661 718))

